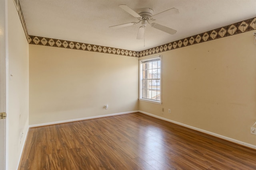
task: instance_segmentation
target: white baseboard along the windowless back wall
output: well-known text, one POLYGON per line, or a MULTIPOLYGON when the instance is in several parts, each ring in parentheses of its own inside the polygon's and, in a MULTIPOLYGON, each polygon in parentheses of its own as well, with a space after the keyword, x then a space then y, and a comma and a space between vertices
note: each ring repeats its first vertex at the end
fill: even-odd
POLYGON ((109 117, 109 116, 116 116, 116 115, 124 115, 124 114, 129 114, 129 113, 136 113, 139 112, 138 110, 136 111, 127 111, 127 112, 122 112, 122 113, 113 113, 113 114, 108 114, 108 115, 99 115, 99 116, 92 116, 92 117, 84 117, 84 118, 78 118, 78 119, 69 119, 69 120, 64 120, 64 121, 55 121, 55 122, 49 122, 49 123, 40 123, 40 124, 35 124, 35 125, 29 125, 29 127, 39 127, 39 126, 46 126, 46 125, 55 125, 59 123, 68 123, 72 121, 81 121, 81 120, 88 120, 88 119, 96 119, 100 117, 109 117))

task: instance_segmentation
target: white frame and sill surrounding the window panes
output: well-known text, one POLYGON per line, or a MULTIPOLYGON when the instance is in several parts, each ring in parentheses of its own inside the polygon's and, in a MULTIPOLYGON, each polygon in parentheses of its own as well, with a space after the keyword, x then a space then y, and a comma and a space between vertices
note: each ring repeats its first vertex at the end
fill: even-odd
POLYGON ((158 55, 156 57, 150 57, 150 58, 147 58, 147 59, 141 59, 139 60, 139 70, 140 70, 140 74, 139 74, 139 100, 140 101, 145 101, 145 102, 151 102, 151 103, 155 103, 155 104, 162 104, 162 55, 158 55), (145 99, 145 98, 142 98, 142 79, 143 79, 143 67, 142 67, 142 62, 145 62, 145 61, 150 61, 150 60, 155 60, 155 59, 160 59, 160 62, 161 62, 161 67, 160 67, 160 101, 158 100, 150 100, 150 99, 145 99))

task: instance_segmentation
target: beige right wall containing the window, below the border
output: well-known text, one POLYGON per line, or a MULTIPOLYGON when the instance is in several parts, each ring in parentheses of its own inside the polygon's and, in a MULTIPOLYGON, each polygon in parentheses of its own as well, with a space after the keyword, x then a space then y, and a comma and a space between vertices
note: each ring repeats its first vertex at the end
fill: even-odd
POLYGON ((256 145, 252 32, 161 53, 162 105, 140 101, 139 109, 256 145))

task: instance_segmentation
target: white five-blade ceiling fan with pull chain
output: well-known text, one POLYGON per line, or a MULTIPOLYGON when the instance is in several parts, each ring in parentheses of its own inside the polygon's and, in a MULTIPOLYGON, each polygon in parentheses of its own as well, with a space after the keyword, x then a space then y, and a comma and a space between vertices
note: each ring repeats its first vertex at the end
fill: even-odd
POLYGON ((149 23, 152 27, 154 27, 156 29, 159 29, 161 31, 164 31, 166 33, 169 33, 169 34, 175 34, 177 32, 175 29, 166 27, 164 25, 149 22, 149 21, 154 21, 154 19, 152 17, 160 16, 159 14, 163 14, 163 13, 168 13, 168 15, 178 14, 179 10, 176 9, 176 8, 171 8, 169 10, 166 10, 166 11, 163 11, 163 12, 160 12, 158 14, 153 15, 154 11, 150 8, 141 8, 137 12, 135 12, 130 7, 128 7, 127 5, 120 4, 118 6, 120 8, 122 8, 124 11, 126 11, 129 14, 131 14, 132 16, 134 16, 135 18, 137 18, 139 21, 138 22, 123 23, 123 24, 120 24, 120 25, 114 25, 114 26, 110 26, 110 28, 127 27, 127 26, 135 25, 135 24, 141 22, 142 26, 140 26, 140 28, 139 28, 139 31, 138 31, 138 34, 137 34, 137 39, 144 39, 144 32, 145 32, 147 23, 149 23))

